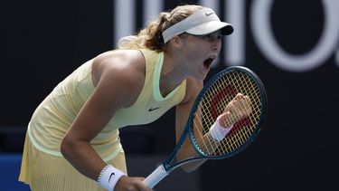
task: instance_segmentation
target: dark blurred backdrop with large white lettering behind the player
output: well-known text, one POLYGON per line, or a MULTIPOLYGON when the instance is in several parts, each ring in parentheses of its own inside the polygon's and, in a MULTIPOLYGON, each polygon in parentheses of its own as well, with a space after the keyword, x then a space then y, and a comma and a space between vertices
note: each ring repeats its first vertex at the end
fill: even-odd
MULTIPOLYGON (((235 32, 213 73, 232 65, 256 72, 268 93, 268 120, 239 155, 181 169, 156 190, 338 190, 339 1, 58 0, 1 3, 0 183, 17 182, 33 110, 81 63, 114 49, 176 5, 212 7, 235 32)), ((146 177, 175 146, 174 110, 121 130, 131 176, 146 177)))

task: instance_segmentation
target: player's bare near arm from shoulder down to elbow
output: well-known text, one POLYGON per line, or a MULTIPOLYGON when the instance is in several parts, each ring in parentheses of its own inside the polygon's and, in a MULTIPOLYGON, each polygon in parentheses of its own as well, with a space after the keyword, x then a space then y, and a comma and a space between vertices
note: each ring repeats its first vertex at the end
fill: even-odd
POLYGON ((96 88, 71 125, 68 133, 71 139, 89 142, 104 129, 117 110, 137 100, 145 81, 144 71, 138 66, 145 61, 128 55, 94 60, 93 64, 98 66, 93 66, 96 88))

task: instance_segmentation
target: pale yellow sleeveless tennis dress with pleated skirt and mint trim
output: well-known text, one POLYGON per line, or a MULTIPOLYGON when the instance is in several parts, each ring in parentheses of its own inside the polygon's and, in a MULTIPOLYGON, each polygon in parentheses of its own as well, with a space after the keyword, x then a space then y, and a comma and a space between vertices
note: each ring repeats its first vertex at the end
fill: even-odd
MULTIPOLYGON (((164 53, 141 49, 146 59, 146 78, 137 101, 118 110, 108 125, 91 140, 91 146, 108 164, 127 173, 118 129, 147 124, 161 117, 184 99, 186 81, 165 98, 159 89, 164 53)), ((19 180, 34 191, 104 190, 96 181, 81 175, 62 157, 61 140, 81 107, 94 91, 91 79, 93 60, 85 62, 61 81, 34 111, 28 125, 19 180)))

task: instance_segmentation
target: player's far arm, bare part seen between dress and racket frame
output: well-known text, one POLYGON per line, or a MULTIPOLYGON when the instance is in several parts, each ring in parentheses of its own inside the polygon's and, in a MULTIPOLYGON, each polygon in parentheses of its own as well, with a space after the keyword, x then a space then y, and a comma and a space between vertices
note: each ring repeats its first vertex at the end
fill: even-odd
POLYGON ((175 108, 175 137, 176 141, 181 137, 184 126, 187 122, 187 119, 191 113, 193 103, 198 96, 199 92, 202 90, 203 83, 202 81, 196 81, 194 79, 187 79, 186 84, 186 93, 182 103, 176 106, 175 108))

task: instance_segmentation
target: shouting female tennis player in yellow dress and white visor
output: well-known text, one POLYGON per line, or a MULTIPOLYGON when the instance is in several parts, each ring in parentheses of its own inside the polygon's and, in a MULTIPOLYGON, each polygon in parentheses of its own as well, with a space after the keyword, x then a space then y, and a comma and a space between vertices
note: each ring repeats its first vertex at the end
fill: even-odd
MULTIPOLYGON (((118 129, 150 123, 176 106, 180 137, 221 36, 232 32, 211 8, 180 5, 82 64, 34 111, 19 180, 36 191, 151 190, 143 177, 127 176, 118 129)), ((241 101, 248 98, 238 94, 222 120, 241 110, 241 101)))

